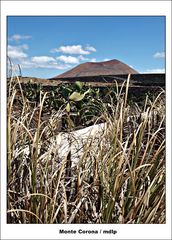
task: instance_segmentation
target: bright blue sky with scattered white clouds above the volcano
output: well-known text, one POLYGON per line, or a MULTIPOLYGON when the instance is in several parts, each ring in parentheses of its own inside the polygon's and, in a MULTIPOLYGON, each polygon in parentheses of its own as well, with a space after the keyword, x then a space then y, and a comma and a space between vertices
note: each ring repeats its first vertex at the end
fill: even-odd
POLYGON ((163 16, 9 16, 7 22, 7 53, 23 76, 50 78, 110 59, 140 73, 165 71, 163 16))

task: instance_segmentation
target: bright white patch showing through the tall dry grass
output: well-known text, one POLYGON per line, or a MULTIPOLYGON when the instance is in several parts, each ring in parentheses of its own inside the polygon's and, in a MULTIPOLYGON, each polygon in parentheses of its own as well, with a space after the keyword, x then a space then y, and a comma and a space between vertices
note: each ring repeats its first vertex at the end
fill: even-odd
MULTIPOLYGON (((89 144, 94 143, 94 148, 102 140, 103 134, 107 129, 107 123, 95 124, 72 132, 59 132, 56 136, 52 137, 49 142, 49 150, 40 156, 39 160, 43 160, 48 154, 53 152, 58 162, 67 158, 69 152, 71 153, 72 167, 78 163, 84 154, 84 148, 89 144)), ((41 146, 40 146, 41 148, 41 146)), ((16 149, 15 157, 20 154, 29 156, 30 149, 26 146, 22 150, 16 149)))

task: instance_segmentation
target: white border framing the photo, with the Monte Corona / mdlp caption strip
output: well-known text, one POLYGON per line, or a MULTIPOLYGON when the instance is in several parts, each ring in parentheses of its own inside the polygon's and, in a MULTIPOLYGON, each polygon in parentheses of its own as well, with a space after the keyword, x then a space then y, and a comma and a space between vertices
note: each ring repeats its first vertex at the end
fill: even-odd
POLYGON ((171 239, 171 1, 2 1, 1 7, 1 239, 105 239, 101 234, 59 235, 59 229, 117 231, 107 239, 171 239), (166 224, 6 223, 7 17, 64 15, 166 17, 166 224))

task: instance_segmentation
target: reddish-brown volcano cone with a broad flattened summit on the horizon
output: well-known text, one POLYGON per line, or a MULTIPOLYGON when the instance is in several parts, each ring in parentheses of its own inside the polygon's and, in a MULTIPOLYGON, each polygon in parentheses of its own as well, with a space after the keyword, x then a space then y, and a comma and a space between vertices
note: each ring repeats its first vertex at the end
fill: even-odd
POLYGON ((106 62, 82 63, 71 70, 62 73, 55 78, 70 78, 83 76, 117 75, 117 74, 137 74, 138 72, 116 59, 106 62))

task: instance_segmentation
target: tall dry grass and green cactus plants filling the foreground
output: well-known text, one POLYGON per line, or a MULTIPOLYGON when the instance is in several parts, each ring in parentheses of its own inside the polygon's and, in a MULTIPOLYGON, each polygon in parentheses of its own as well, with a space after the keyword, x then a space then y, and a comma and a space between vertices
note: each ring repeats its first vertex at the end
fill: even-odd
POLYGON ((8 223, 165 223, 165 92, 137 103, 129 78, 104 91, 76 82, 46 92, 11 77, 8 223), (52 139, 96 123, 107 128, 79 163, 60 159, 52 139))

